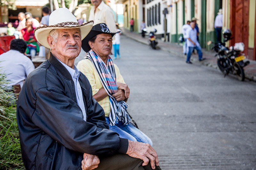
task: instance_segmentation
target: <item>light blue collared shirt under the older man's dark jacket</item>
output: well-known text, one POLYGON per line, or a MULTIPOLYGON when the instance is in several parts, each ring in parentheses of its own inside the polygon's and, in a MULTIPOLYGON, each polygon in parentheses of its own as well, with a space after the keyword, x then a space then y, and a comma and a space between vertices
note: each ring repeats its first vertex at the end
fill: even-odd
POLYGON ((71 75, 71 77, 72 77, 72 79, 73 79, 73 81, 75 83, 77 104, 78 104, 78 106, 81 108, 81 110, 83 112, 84 121, 86 121, 86 111, 85 111, 85 107, 84 107, 83 94, 82 94, 81 85, 79 84, 79 81, 78 81, 78 77, 80 75, 80 71, 77 70, 76 66, 74 66, 74 69, 72 69, 68 65, 62 63, 61 61, 60 61, 60 63, 68 70, 68 72, 70 73, 70 75, 71 75))

